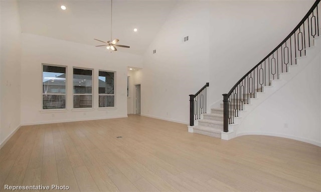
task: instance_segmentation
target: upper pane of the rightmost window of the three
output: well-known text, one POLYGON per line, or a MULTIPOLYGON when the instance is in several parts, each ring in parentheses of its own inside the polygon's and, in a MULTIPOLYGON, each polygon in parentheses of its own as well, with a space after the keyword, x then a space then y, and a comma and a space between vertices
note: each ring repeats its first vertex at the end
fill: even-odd
POLYGON ((114 72, 99 71, 99 94, 114 94, 114 72))

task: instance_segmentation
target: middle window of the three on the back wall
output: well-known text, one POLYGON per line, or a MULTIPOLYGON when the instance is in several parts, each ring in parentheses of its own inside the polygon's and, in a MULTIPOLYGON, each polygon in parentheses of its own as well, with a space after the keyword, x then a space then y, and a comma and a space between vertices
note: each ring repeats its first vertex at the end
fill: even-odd
POLYGON ((74 108, 92 107, 92 70, 74 68, 74 108))

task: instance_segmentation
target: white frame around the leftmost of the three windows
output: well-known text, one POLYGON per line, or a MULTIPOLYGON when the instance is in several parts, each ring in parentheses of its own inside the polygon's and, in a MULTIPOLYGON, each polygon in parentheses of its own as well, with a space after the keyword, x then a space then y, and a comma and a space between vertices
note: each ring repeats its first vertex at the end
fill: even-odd
POLYGON ((57 110, 67 110, 67 102, 68 102, 68 99, 67 99, 67 91, 68 91, 68 88, 67 88, 67 84, 68 84, 68 66, 67 65, 60 65, 60 64, 49 64, 49 63, 41 63, 41 111, 57 111, 57 110), (65 108, 44 108, 44 93, 43 92, 43 88, 44 88, 44 65, 46 66, 58 66, 58 67, 64 67, 66 68, 66 82, 65 82, 65 93, 50 93, 50 94, 47 94, 47 95, 65 95, 65 108))

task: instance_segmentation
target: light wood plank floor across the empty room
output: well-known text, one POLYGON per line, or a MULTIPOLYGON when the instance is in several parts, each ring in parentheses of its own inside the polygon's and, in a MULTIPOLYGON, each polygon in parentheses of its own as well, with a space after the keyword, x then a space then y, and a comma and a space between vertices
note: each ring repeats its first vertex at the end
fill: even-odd
POLYGON ((248 135, 226 141, 139 115, 21 127, 0 150, 0 186, 69 191, 320 191, 320 147, 248 135), (122 136, 122 138, 116 138, 122 136))

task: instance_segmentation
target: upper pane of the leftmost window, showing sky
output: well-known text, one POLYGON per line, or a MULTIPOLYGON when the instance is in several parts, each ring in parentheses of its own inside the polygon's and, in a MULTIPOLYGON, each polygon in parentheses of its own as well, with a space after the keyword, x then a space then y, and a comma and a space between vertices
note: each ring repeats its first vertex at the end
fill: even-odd
POLYGON ((43 65, 44 94, 66 93, 66 67, 43 65))

